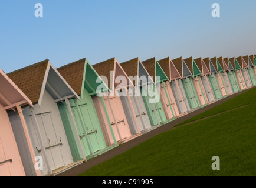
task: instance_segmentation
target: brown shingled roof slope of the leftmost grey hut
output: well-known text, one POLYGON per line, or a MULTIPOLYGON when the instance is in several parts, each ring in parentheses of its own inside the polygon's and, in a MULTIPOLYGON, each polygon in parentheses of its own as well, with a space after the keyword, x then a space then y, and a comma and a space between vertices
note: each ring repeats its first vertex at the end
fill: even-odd
POLYGON ((8 73, 9 78, 25 93, 33 104, 38 102, 49 59, 8 73))

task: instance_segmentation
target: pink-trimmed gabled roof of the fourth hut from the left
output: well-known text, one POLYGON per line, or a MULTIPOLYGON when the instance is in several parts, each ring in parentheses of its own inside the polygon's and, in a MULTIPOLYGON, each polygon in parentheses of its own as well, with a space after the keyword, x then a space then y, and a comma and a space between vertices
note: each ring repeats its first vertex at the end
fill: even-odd
POLYGON ((129 79, 129 76, 126 74, 122 66, 119 64, 119 62, 116 60, 116 58, 111 58, 106 61, 97 63, 93 65, 93 68, 96 70, 98 75, 100 76, 105 76, 107 80, 104 80, 104 82, 108 83, 108 87, 110 90, 114 90, 117 85, 119 86, 133 86, 134 84, 132 81, 129 79), (124 83, 116 83, 116 77, 117 76, 125 76, 127 79, 127 84, 124 85, 124 83))

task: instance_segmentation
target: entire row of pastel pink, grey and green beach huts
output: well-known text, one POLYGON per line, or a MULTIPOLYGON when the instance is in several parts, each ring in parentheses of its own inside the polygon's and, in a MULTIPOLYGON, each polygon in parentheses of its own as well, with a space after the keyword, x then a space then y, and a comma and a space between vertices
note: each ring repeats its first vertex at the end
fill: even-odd
POLYGON ((254 55, 0 69, 0 176, 56 175, 255 86, 255 75, 254 55))

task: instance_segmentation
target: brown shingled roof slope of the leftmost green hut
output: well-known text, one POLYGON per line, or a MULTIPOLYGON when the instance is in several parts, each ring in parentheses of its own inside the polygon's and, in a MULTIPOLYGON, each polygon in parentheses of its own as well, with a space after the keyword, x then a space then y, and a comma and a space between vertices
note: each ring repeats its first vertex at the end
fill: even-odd
POLYGON ((68 84, 74 89, 77 95, 81 95, 85 63, 86 58, 83 58, 76 62, 57 68, 58 72, 60 72, 61 76, 63 76, 68 84))

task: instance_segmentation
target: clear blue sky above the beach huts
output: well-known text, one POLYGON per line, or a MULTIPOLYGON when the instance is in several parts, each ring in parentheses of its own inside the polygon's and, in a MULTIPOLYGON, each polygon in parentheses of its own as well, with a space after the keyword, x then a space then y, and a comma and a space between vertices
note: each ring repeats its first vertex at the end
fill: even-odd
POLYGON ((1 0, 0 68, 256 53, 255 0, 1 0), (43 18, 35 18, 35 4, 43 18), (221 17, 212 18, 219 3, 221 17))

